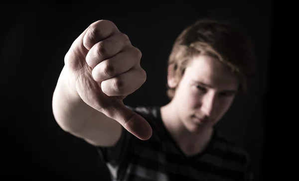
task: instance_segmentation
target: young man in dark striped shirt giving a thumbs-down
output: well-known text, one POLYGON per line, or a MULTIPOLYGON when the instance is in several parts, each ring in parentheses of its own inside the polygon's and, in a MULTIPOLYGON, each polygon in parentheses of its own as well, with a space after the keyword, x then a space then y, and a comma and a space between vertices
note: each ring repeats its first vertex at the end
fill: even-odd
POLYGON ((255 73, 234 26, 201 19, 177 37, 168 61, 170 102, 130 107, 146 81, 141 52, 108 20, 72 44, 53 94, 60 127, 94 145, 113 181, 249 181, 250 158, 214 125, 255 73))

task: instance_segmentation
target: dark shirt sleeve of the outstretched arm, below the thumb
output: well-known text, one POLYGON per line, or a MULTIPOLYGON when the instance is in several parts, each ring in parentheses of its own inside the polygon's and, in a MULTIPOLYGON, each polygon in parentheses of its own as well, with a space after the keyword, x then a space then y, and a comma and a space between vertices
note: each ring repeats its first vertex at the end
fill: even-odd
MULTIPOLYGON (((127 106, 128 107, 128 106, 127 106)), ((131 108, 131 107, 129 107, 131 108)), ((133 108, 131 108, 133 110, 133 108)), ((129 149, 135 143, 134 135, 122 127, 122 134, 118 142, 112 147, 96 147, 101 160, 107 164, 118 165, 124 158, 127 157, 129 149)))

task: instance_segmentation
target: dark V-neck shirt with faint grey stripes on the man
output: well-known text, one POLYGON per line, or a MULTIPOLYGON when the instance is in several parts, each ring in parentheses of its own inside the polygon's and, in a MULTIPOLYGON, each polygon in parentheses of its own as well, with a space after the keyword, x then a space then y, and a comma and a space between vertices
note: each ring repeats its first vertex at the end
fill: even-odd
POLYGON ((129 108, 149 122, 152 136, 139 140, 123 128, 114 147, 97 147, 112 181, 253 180, 248 154, 217 130, 203 152, 186 156, 164 127, 159 107, 129 108))

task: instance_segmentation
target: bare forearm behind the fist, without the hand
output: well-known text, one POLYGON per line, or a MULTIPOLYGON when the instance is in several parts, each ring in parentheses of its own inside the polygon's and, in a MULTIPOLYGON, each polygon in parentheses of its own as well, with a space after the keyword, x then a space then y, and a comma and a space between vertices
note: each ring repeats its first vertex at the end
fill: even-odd
POLYGON ((52 109, 58 125, 66 132, 95 146, 113 146, 121 135, 121 124, 86 104, 66 84, 66 68, 61 71, 53 93, 52 109))

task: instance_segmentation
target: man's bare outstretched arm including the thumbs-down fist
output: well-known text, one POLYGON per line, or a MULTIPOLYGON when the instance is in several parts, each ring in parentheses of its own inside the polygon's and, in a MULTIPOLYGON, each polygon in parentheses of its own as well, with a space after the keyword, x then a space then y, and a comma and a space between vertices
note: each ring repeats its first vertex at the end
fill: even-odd
POLYGON ((122 126, 148 139, 149 123, 123 104, 146 80, 140 59, 140 51, 114 23, 92 23, 67 52, 53 93, 59 126, 95 146, 113 146, 122 126))

